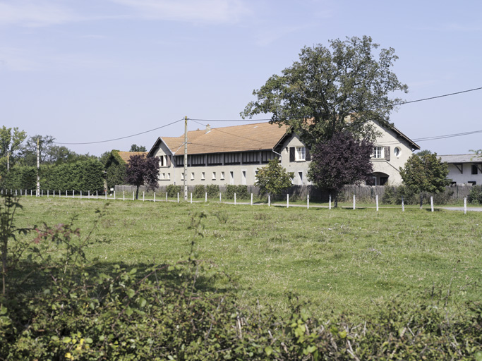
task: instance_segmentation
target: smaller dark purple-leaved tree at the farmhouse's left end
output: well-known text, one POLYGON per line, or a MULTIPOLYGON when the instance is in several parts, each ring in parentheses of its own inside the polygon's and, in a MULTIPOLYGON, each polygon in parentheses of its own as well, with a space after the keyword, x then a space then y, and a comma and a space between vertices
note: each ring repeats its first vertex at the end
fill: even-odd
POLYGON ((135 199, 139 196, 140 185, 146 185, 147 190, 155 190, 158 187, 159 159, 133 155, 129 158, 126 168, 126 183, 135 185, 135 199))

